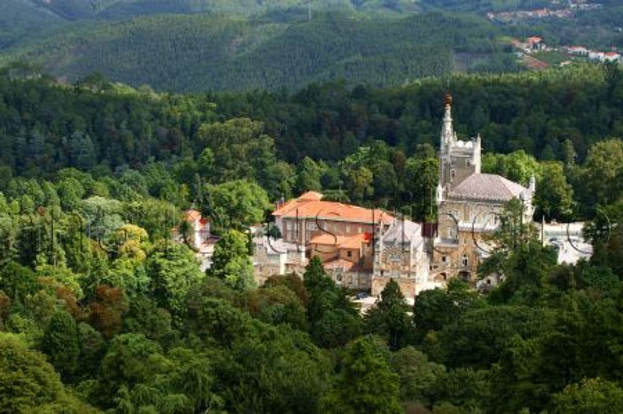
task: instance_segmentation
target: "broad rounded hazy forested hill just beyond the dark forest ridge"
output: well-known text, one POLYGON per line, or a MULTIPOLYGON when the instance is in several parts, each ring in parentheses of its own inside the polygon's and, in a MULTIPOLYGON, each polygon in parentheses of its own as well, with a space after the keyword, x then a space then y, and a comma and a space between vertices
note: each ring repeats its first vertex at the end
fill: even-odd
POLYGON ((2 60, 176 92, 300 89, 340 78, 385 87, 455 70, 516 70, 498 35, 483 19, 437 13, 387 21, 333 12, 311 24, 164 15, 59 34, 2 60))

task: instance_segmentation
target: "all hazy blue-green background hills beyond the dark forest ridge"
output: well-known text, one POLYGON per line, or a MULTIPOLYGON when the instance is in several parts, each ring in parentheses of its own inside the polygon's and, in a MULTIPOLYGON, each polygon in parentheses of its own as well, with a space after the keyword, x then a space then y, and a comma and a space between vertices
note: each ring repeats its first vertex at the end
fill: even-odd
POLYGON ((623 46, 623 8, 560 19, 489 21, 485 12, 566 7, 506 0, 7 0, 0 65, 26 61, 75 82, 100 72, 159 91, 299 90, 345 79, 396 87, 450 73, 525 69, 511 37, 623 46), (311 17, 311 22, 308 20, 311 17))

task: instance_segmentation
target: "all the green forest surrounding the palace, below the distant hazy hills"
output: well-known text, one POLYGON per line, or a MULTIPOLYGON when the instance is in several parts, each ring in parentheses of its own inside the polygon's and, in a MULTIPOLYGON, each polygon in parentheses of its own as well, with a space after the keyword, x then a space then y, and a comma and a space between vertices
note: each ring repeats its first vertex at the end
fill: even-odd
POLYGON ((307 190, 434 219, 447 82, 171 95, 4 70, 0 413, 622 412, 622 78, 450 79, 483 171, 536 176, 537 214, 592 220, 594 255, 558 265, 510 203, 481 269, 500 285, 409 306, 389 282, 361 315, 318 259, 255 286, 244 231, 307 190), (220 237, 205 273, 191 206, 220 237))

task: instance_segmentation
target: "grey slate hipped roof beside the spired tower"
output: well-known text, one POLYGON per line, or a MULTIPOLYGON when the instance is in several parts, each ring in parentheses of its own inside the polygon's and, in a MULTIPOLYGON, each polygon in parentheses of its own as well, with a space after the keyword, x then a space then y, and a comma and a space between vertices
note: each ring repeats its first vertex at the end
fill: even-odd
POLYGON ((495 174, 472 174, 449 191, 449 198, 468 198, 470 200, 510 201, 519 198, 523 186, 495 174))

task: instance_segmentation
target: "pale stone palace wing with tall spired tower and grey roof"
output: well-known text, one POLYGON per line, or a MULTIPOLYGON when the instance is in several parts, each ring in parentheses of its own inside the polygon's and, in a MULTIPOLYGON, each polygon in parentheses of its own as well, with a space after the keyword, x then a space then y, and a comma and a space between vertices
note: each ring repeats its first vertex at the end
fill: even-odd
POLYGON ((430 276, 436 281, 457 276, 473 281, 488 254, 482 236, 498 227, 497 214, 505 204, 518 198, 525 205, 525 219, 532 221, 535 180, 525 188, 503 176, 481 173, 480 135, 459 140, 452 127, 450 95, 445 97, 440 140, 438 225, 430 249, 430 276))

